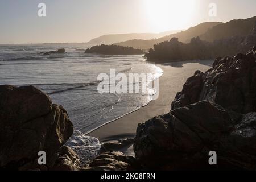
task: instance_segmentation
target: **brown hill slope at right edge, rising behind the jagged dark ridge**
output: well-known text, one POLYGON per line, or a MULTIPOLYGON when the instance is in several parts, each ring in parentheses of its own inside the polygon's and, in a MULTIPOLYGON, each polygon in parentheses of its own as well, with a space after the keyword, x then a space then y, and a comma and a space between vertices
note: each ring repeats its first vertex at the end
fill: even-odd
POLYGON ((250 34, 251 30, 253 30, 255 21, 256 16, 253 18, 237 19, 218 24, 203 35, 200 35, 200 39, 213 42, 214 40, 231 38, 233 36, 247 36, 250 34))

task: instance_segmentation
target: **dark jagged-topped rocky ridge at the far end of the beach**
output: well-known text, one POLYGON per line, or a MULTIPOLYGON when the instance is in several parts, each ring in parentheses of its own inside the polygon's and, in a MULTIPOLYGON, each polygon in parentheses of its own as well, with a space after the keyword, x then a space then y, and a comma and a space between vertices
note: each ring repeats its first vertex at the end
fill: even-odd
POLYGON ((192 38, 188 44, 179 42, 177 38, 172 38, 170 41, 154 45, 154 49, 150 49, 145 56, 147 59, 162 61, 215 59, 226 55, 233 56, 237 52, 246 53, 251 44, 256 44, 254 38, 253 33, 247 37, 234 36, 214 42, 206 42, 197 37, 192 38))

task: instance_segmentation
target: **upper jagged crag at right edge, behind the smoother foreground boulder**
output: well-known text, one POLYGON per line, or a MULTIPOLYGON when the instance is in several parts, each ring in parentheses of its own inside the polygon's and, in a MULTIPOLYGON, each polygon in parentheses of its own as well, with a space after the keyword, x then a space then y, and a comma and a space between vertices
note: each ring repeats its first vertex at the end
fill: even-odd
POLYGON ((237 113, 256 111, 255 47, 246 55, 218 57, 204 74, 196 71, 177 93, 171 109, 207 100, 237 113))

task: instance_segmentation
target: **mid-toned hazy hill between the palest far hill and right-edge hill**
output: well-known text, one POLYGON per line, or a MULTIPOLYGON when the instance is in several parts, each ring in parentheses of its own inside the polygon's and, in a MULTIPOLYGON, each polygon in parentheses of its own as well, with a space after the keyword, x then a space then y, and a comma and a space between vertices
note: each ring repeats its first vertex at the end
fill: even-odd
POLYGON ((171 38, 179 38, 181 42, 188 43, 194 37, 200 36, 207 32, 210 28, 217 26, 218 24, 222 24, 221 22, 205 22, 201 23, 195 27, 191 27, 186 31, 181 31, 179 33, 171 34, 168 36, 164 36, 158 39, 151 40, 142 40, 142 39, 133 39, 126 42, 115 43, 119 46, 129 46, 133 48, 139 49, 150 49, 154 46, 154 44, 158 44, 160 42, 164 42, 166 40, 170 40, 171 38))

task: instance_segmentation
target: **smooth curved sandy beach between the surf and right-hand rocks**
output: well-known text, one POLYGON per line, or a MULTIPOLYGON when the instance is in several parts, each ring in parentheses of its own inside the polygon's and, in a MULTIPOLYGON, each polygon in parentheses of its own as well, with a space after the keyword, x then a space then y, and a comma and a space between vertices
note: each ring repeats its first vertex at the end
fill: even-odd
POLYGON ((212 60, 195 62, 179 62, 158 65, 163 69, 163 76, 159 78, 159 98, 152 100, 150 104, 141 109, 127 114, 113 122, 110 122, 89 133, 100 142, 115 141, 122 138, 133 138, 136 134, 138 123, 143 123, 157 115, 170 111, 171 102, 176 93, 180 92, 188 77, 196 70, 207 71, 212 67, 212 60))

